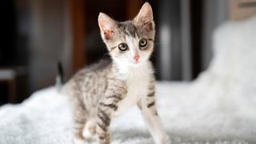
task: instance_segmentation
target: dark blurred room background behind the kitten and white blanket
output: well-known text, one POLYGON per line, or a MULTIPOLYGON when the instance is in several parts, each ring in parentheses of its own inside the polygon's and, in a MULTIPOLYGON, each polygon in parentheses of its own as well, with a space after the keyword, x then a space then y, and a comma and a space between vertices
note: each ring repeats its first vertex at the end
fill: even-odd
MULTIPOLYGON (((18 103, 53 86, 58 61, 66 80, 106 55, 98 14, 134 18, 145 0, 8 0, 2 2, 0 105, 18 103), (104 55, 105 54, 105 55, 104 55)), ((156 36, 151 58, 156 78, 192 81, 212 58, 213 30, 240 18, 255 0, 149 0, 156 36)), ((243 15, 242 18, 249 17, 243 15)))

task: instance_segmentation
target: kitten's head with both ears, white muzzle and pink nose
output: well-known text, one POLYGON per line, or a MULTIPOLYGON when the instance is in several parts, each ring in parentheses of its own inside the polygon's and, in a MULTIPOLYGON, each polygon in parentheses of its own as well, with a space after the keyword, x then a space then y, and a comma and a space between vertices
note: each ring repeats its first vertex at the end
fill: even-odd
POLYGON ((98 25, 114 60, 138 66, 150 58, 154 48, 154 21, 149 3, 142 6, 132 21, 116 22, 100 13, 98 25))

